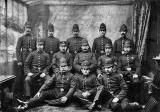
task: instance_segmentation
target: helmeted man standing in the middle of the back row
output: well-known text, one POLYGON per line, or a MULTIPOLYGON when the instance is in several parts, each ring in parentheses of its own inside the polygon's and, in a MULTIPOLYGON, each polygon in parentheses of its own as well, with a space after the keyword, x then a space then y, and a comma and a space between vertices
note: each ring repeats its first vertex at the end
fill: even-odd
POLYGON ((73 25, 72 29, 73 37, 67 39, 69 53, 71 53, 73 60, 75 55, 80 52, 82 37, 79 36, 78 24, 73 25))

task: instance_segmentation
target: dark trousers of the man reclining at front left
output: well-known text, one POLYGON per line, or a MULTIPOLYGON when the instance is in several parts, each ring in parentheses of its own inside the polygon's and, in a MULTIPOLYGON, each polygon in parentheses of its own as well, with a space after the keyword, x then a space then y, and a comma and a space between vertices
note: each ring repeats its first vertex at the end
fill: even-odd
POLYGON ((53 105, 63 104, 60 99, 62 96, 63 94, 60 94, 57 89, 43 91, 40 97, 33 97, 29 100, 28 107, 34 107, 44 102, 52 103, 53 105))

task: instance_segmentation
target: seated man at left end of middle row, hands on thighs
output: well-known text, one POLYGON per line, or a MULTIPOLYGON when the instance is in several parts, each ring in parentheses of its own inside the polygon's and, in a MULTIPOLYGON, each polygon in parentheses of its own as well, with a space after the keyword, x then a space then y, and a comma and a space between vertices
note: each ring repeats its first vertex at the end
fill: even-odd
POLYGON ((30 98, 33 91, 31 86, 36 80, 46 80, 48 78, 49 55, 43 51, 43 41, 37 41, 37 50, 30 53, 25 61, 25 74, 27 75, 24 82, 25 96, 30 98))

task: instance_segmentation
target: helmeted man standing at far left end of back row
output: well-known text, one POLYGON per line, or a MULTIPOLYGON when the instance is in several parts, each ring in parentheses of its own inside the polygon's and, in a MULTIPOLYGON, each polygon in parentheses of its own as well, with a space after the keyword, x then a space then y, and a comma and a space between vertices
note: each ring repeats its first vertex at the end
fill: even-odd
MULTIPOLYGON (((25 34, 21 36, 17 41, 16 46, 16 56, 18 64, 18 73, 16 77, 16 86, 14 92, 19 95, 23 91, 23 81, 24 81, 24 63, 32 51, 36 50, 36 38, 31 34, 31 24, 29 22, 25 23, 25 34)), ((23 93, 22 93, 23 94, 23 93)), ((21 94, 20 94, 21 96, 21 94)))

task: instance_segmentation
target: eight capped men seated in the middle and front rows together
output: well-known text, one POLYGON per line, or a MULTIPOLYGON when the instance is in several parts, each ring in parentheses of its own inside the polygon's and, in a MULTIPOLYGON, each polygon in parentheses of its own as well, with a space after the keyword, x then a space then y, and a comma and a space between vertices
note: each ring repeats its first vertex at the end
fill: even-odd
POLYGON ((40 78, 45 82, 33 98, 27 102, 19 101, 21 105, 18 109, 25 110, 42 102, 64 105, 72 98, 78 99, 75 101, 89 110, 101 109, 106 102, 107 108, 112 110, 143 108, 136 102, 130 103, 127 98, 129 84, 138 80, 140 68, 137 57, 130 54, 130 41, 125 41, 125 53, 119 59, 112 55, 112 45, 106 44, 105 55, 98 59, 98 64, 86 39, 82 40, 82 51, 74 61, 67 52, 66 42, 60 42, 59 49, 50 64, 49 55, 43 51, 43 41, 37 42, 37 50, 30 53, 25 62, 26 96, 31 97, 33 80, 40 78), (97 66, 98 75, 95 74, 97 66), (48 69, 51 67, 54 73, 49 76, 48 69))

